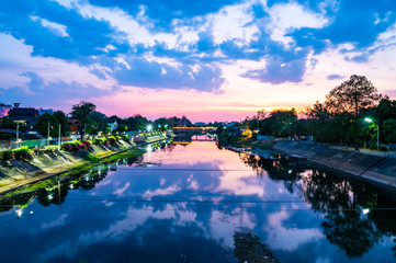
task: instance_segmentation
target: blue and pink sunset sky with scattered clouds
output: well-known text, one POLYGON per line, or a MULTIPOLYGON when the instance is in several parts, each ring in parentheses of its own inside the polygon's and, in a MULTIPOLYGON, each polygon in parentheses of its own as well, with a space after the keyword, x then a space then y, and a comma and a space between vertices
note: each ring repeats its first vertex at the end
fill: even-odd
POLYGON ((396 98, 394 0, 0 0, 0 102, 241 121, 351 75, 396 98))

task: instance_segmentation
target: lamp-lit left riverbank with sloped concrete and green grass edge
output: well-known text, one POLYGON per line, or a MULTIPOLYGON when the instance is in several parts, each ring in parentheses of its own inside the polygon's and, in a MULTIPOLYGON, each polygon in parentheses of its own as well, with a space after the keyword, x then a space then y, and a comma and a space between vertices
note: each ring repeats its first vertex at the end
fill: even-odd
MULTIPOLYGON (((172 135, 148 136, 142 145, 154 144, 171 138, 172 135)), ((132 140, 117 140, 109 145, 93 145, 88 149, 69 152, 66 150, 38 152, 32 161, 10 160, 0 165, 0 194, 46 180, 66 171, 81 171, 106 159, 129 152, 129 156, 142 155, 143 150, 135 149, 132 140)))

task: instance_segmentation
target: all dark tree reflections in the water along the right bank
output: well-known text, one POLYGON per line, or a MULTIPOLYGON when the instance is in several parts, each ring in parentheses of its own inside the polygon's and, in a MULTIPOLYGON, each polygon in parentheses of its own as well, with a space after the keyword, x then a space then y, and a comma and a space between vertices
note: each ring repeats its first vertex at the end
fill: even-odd
POLYGON ((362 215, 363 208, 395 207, 395 201, 383 204, 382 201, 389 197, 377 198, 376 192, 359 183, 317 170, 299 175, 305 171, 304 165, 286 158, 269 160, 251 155, 239 156, 259 175, 267 172, 270 179, 283 181, 291 193, 302 190, 312 208, 325 215, 324 235, 343 249, 348 256, 362 256, 382 236, 396 235, 396 210, 374 209, 367 216, 362 215), (303 184, 297 183, 301 179, 303 184))

